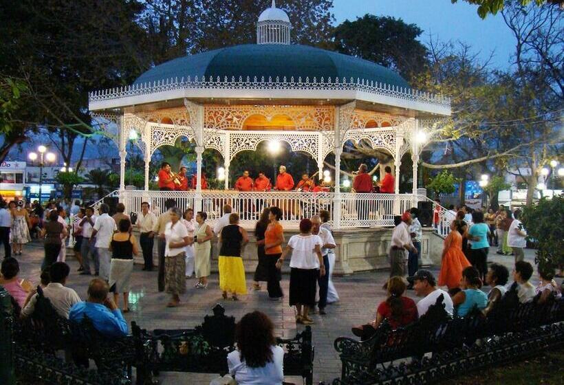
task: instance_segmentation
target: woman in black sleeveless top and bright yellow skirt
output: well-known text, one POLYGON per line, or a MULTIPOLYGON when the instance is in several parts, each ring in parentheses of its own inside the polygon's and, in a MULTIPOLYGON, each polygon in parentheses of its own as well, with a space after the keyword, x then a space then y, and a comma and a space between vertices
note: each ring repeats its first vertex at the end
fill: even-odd
POLYGON ((239 300, 238 294, 247 294, 241 249, 249 241, 246 230, 239 226, 239 214, 230 214, 229 225, 221 229, 219 241, 219 289, 224 298, 230 292, 233 300, 239 300))

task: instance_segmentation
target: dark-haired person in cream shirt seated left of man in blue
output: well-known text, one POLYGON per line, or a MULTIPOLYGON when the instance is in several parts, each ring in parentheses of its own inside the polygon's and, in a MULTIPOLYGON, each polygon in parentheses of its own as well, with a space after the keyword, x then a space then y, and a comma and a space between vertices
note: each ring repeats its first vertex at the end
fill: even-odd
MULTIPOLYGON (((70 287, 65 287, 70 268, 64 262, 55 262, 51 265, 49 275, 51 283, 43 289, 43 295, 48 298, 57 314, 63 318, 69 318, 69 310, 75 303, 80 302, 80 297, 70 287)), ((37 294, 30 298, 30 302, 21 310, 23 317, 31 316, 35 310, 37 294)))

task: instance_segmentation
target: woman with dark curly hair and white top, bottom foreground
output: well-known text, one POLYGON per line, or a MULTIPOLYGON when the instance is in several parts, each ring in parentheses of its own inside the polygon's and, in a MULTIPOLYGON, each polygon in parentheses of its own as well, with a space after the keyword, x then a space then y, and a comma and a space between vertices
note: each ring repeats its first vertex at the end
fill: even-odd
POLYGON ((237 350, 227 355, 230 375, 239 385, 281 385, 284 351, 276 345, 274 325, 261 311, 248 313, 235 329, 237 350))

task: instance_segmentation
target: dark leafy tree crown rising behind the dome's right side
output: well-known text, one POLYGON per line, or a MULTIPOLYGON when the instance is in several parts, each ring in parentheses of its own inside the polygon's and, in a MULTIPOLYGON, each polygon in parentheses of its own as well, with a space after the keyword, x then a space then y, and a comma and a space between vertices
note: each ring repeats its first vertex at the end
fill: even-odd
POLYGON ((373 61, 409 79, 422 72, 427 61, 426 47, 417 41, 422 32, 401 19, 365 14, 343 21, 333 37, 338 52, 373 61))

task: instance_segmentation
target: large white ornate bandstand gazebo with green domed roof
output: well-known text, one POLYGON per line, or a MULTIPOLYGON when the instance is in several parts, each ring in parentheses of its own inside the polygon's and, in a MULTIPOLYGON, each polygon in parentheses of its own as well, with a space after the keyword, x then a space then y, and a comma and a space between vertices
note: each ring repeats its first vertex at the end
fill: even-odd
MULTIPOLYGON (((235 45, 188 55, 142 74, 133 85, 89 95, 94 120, 105 127, 120 151, 118 196, 127 211, 141 201, 164 210, 166 199, 182 208, 208 212, 210 221, 231 203, 243 225, 254 224, 256 208, 278 204, 283 221, 324 208, 332 212, 336 230, 392 225, 393 215, 417 204, 417 137, 450 115, 450 100, 411 89, 400 75, 360 58, 290 43, 288 14, 272 1, 257 23, 257 44, 235 45), (131 133, 144 157, 144 190, 124 185, 127 143, 131 133), (195 143, 195 190, 149 190, 149 163, 160 146, 179 137, 195 143), (224 159, 226 175, 241 151, 256 150, 264 141, 287 142, 292 151, 311 155, 319 175, 334 153, 335 168, 347 141, 364 140, 393 159, 395 194, 340 192, 340 173, 334 173, 332 192, 238 192, 202 190, 202 153, 215 148, 224 159), (400 194, 402 156, 413 159, 413 191, 400 194), (262 203, 261 203, 262 202, 262 203)), ((303 170, 290 170, 294 175, 303 170)))

